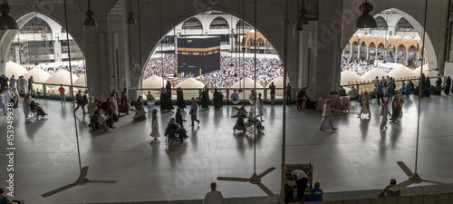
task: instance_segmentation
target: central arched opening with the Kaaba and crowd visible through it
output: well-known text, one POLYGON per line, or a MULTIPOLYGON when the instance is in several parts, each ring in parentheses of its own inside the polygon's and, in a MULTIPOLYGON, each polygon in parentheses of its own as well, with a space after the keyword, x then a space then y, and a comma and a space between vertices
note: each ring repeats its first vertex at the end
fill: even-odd
MULTIPOLYGON (((216 13, 218 15, 218 13, 216 13)), ((226 14, 222 14, 226 15, 226 14)), ((250 24, 247 24, 242 19, 237 20, 236 30, 234 33, 228 29, 229 25, 226 21, 226 18, 217 16, 214 20, 211 21, 209 25, 209 29, 216 30, 215 32, 209 31, 209 36, 216 36, 219 38, 220 41, 220 49, 219 49, 219 60, 220 60, 220 67, 217 70, 212 72, 205 73, 205 67, 200 67, 197 64, 190 63, 188 58, 194 56, 207 56, 212 54, 211 51, 207 53, 197 52, 196 48, 187 48, 181 49, 181 47, 188 47, 188 44, 195 44, 197 43, 197 39, 202 39, 205 36, 197 36, 196 38, 191 39, 190 37, 194 37, 197 34, 189 34, 188 28, 193 28, 196 26, 188 26, 189 23, 194 25, 198 24, 201 25, 203 22, 206 21, 205 18, 209 18, 208 15, 195 15, 189 17, 188 19, 182 23, 181 30, 178 30, 180 25, 176 25, 176 30, 179 35, 176 36, 169 36, 166 37, 175 38, 175 44, 171 44, 173 46, 172 50, 161 50, 159 49, 159 45, 154 50, 152 54, 149 55, 149 59, 145 63, 145 68, 142 72, 141 80, 146 82, 151 76, 156 75, 160 77, 162 83, 156 84, 156 87, 145 87, 144 89, 159 89, 160 87, 164 87, 164 82, 170 82, 173 87, 176 87, 178 83, 183 82, 189 77, 193 77, 201 83, 206 84, 208 87, 218 87, 218 88, 228 88, 234 83, 239 82, 243 78, 251 78, 255 80, 255 73, 253 71, 254 66, 254 54, 253 53, 243 53, 245 51, 250 51, 250 48, 253 47, 255 50, 255 38, 249 38, 247 36, 253 35, 252 33, 242 33, 245 30, 254 31, 253 27, 250 24), (201 22, 201 23, 198 23, 201 22), (186 29, 184 29, 186 28, 186 29), (216 33, 217 34, 213 34, 216 33), (223 36, 226 39, 234 38, 232 41, 223 41, 223 36), (180 38, 184 38, 183 41, 180 38), (195 39, 195 40, 194 40, 195 39), (231 43, 234 44, 233 51, 230 49, 231 43), (242 51, 242 53, 239 53, 242 51), (211 52, 211 53, 209 53, 211 52), (182 60, 183 63, 180 61, 182 60), (195 72, 181 72, 181 70, 186 70, 186 68, 193 68, 195 72), (199 74, 201 73, 201 74, 199 74), (158 87, 159 86, 159 87, 158 87)), ((236 16, 232 16, 232 19, 235 19, 236 16)), ((229 19, 229 18, 228 18, 229 19)), ((259 33, 259 32, 258 32, 259 33)), ((172 34, 171 32, 169 34, 172 34)), ((165 39, 164 37, 163 39, 165 39)), ((256 42, 257 45, 257 53, 260 53, 257 57, 259 58, 259 69, 257 71, 257 78, 256 81, 265 86, 270 81, 275 79, 276 77, 280 76, 283 73, 283 67, 281 66, 281 60, 279 59, 278 55, 275 54, 272 45, 265 39, 263 34, 259 33, 259 36, 256 38, 259 39, 256 42), (272 54, 270 54, 272 51, 272 54)), ((201 45, 201 44, 199 44, 201 45)), ((148 84, 148 83, 143 83, 148 84)), ((146 91, 145 91, 146 92, 146 91)), ((176 95, 176 94, 173 94, 176 95)))

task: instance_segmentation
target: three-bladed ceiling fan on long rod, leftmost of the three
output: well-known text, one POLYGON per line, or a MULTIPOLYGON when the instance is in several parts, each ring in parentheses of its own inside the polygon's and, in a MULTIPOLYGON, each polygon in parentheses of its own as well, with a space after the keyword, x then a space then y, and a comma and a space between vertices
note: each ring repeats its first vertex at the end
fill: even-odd
MULTIPOLYGON (((64 0, 64 14, 67 15, 67 12, 66 12, 66 0, 64 0)), ((66 17, 65 18, 66 22, 66 29, 68 29, 68 18, 66 17)), ((69 39, 69 34, 66 33, 66 37, 69 39)), ((69 44, 68 44, 68 50, 69 50, 69 44)), ((69 58, 69 69, 70 69, 70 72, 69 73, 72 73, 72 66, 71 66, 71 53, 68 53, 68 58, 69 58)), ((72 80, 71 80, 71 86, 72 86, 72 80)), ((73 93, 71 93, 73 94, 73 93)), ((73 95, 72 95, 73 97, 73 95)), ((74 104, 72 104, 72 108, 75 108, 74 107, 74 104)), ((56 194, 56 193, 59 193, 59 192, 62 192, 63 190, 66 190, 66 189, 71 189, 72 187, 75 187, 75 186, 82 186, 82 185, 85 185, 87 183, 116 183, 115 180, 88 180, 87 179, 87 174, 88 174, 88 166, 86 167, 83 167, 82 168, 82 162, 81 162, 81 151, 80 151, 80 146, 79 146, 79 134, 78 134, 78 131, 77 131, 77 120, 75 120, 75 115, 74 115, 74 127, 75 127, 75 138, 76 138, 76 141, 77 141, 77 154, 79 156, 79 168, 81 170, 81 174, 79 176, 79 179, 75 180, 75 182, 71 183, 71 184, 68 184, 66 186, 63 186, 61 188, 58 188, 58 189, 53 189, 49 192, 46 192, 46 193, 43 193, 41 196, 43 198, 47 198, 49 196, 52 196, 53 194, 56 194)))

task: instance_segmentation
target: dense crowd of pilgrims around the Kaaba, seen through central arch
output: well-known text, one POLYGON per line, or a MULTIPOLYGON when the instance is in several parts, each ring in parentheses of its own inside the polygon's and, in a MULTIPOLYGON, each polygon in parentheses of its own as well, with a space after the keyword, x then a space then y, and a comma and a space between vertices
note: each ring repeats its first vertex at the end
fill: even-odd
MULTIPOLYGON (((279 59, 256 58, 255 73, 254 57, 221 56, 220 69, 211 73, 204 73, 196 79, 209 87, 229 87, 245 77, 251 78, 260 84, 266 84, 283 74, 282 62, 279 59)), ((146 66, 143 78, 158 75, 172 84, 184 81, 184 77, 174 77, 178 72, 178 57, 174 53, 165 53, 163 57, 152 57, 146 66), (163 68, 162 68, 163 66, 163 68)))

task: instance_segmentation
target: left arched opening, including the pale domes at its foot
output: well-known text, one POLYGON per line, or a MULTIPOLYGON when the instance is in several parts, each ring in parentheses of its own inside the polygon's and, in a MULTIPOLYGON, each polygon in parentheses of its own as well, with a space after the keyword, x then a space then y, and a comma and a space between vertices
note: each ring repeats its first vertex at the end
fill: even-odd
POLYGON ((61 24, 48 15, 38 13, 24 15, 17 22, 19 30, 8 30, 2 36, 2 51, 5 50, 5 47, 7 48, 7 51, 3 53, 6 61, 19 63, 29 71, 24 73, 24 76, 34 74, 35 83, 43 83, 34 84, 35 92, 56 94, 58 91, 55 91, 54 86, 48 83, 63 83, 66 93, 70 94, 68 44, 72 59, 72 83, 74 86, 78 86, 77 88, 86 87, 84 77, 86 69, 82 49, 71 34, 67 38, 66 31, 61 24), (32 70, 34 71, 30 72, 32 70), (61 70, 63 71, 53 76, 61 70), (80 80, 78 80, 79 78, 80 80))

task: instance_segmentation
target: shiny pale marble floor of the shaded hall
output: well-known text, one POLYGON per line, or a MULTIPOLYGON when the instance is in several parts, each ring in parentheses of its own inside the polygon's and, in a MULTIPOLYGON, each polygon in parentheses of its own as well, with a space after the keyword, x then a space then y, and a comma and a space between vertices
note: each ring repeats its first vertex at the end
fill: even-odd
MULTIPOLYGON (((132 121, 120 117, 116 129, 89 131, 88 116, 76 116, 82 166, 90 166, 91 180, 117 180, 116 184, 87 184, 55 194, 40 195, 77 180, 79 164, 72 105, 42 102, 48 120, 24 121, 22 106, 14 111, 14 199, 27 203, 90 203, 202 199, 209 183, 217 176, 250 177, 254 170, 254 139, 233 133, 236 114, 231 106, 220 111, 199 112, 200 125, 186 123, 188 140, 166 146, 161 138, 151 141, 150 118, 132 121)), ((380 189, 390 178, 405 180, 396 161, 414 169, 418 98, 412 96, 403 107, 398 124, 379 130, 377 102, 371 104, 371 120, 359 119, 354 112, 333 117, 338 131, 319 131, 321 114, 314 110, 297 112, 289 106, 287 116, 286 162, 313 163, 314 180, 326 192, 380 189)), ((280 189, 282 150, 281 105, 265 106, 265 131, 256 136, 256 171, 269 167, 263 183, 280 189)), ((419 128, 419 175, 429 180, 453 182, 453 103, 451 96, 435 96, 421 101, 419 128)), ((159 112, 160 132, 174 112, 159 112)), ((187 113, 185 117, 189 120, 187 113)), ((0 117, 0 186, 8 180, 6 151, 7 118, 0 117)), ((249 183, 217 181, 226 198, 265 196, 249 183)), ((6 190, 8 192, 8 190, 6 190)))

